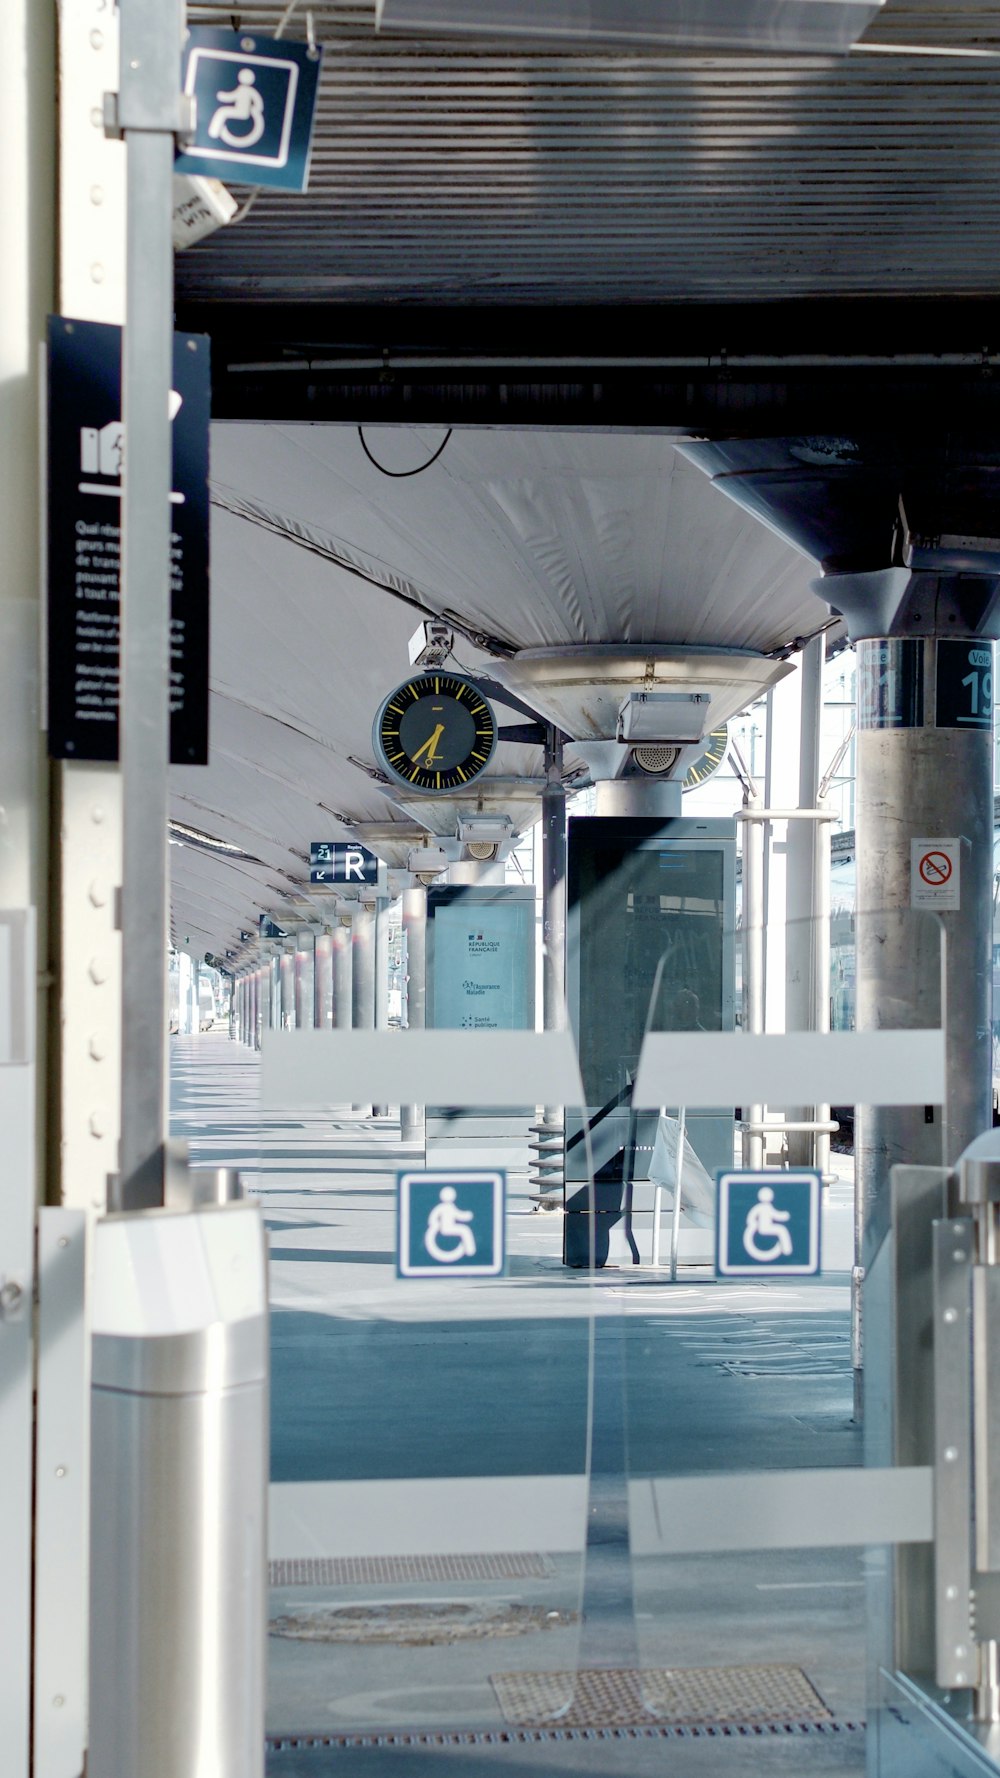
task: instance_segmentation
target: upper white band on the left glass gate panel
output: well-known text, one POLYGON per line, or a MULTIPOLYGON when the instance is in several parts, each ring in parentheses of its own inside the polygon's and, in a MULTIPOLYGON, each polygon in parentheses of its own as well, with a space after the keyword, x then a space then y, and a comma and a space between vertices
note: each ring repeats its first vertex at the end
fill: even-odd
POLYGON ((265 1031, 265 1111, 333 1104, 578 1106, 569 1031, 265 1031))

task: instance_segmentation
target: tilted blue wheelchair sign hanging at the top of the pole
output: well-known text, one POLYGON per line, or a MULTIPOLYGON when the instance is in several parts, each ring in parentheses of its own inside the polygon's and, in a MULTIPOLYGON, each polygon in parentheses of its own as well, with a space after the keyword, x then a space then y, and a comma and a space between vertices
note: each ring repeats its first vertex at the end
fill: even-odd
POLYGON ((194 100, 194 139, 176 172, 304 192, 320 53, 283 37, 192 27, 181 87, 194 100))

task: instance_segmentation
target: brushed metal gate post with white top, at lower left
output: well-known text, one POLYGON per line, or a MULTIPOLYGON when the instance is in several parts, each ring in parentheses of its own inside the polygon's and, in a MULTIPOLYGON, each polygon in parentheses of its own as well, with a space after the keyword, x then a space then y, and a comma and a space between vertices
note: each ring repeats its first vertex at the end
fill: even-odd
POLYGON ((263 1778, 256 1205, 107 1216, 93 1303, 87 1778, 263 1778))

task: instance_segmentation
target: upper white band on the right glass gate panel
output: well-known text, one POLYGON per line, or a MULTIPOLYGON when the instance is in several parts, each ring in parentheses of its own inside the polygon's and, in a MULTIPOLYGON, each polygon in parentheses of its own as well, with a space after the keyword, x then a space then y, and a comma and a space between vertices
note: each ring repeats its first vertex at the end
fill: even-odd
POLYGON ((943 1031, 651 1031, 632 1104, 938 1106, 943 1031))

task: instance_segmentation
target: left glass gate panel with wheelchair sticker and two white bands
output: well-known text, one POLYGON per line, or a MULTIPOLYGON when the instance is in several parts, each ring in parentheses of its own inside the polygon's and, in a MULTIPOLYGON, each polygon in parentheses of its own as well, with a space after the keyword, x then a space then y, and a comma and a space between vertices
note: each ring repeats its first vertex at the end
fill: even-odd
POLYGON ((571 1709, 593 1285, 528 1177, 537 1108, 580 1099, 568 1077, 566 1033, 263 1035, 272 1750, 571 1709))

